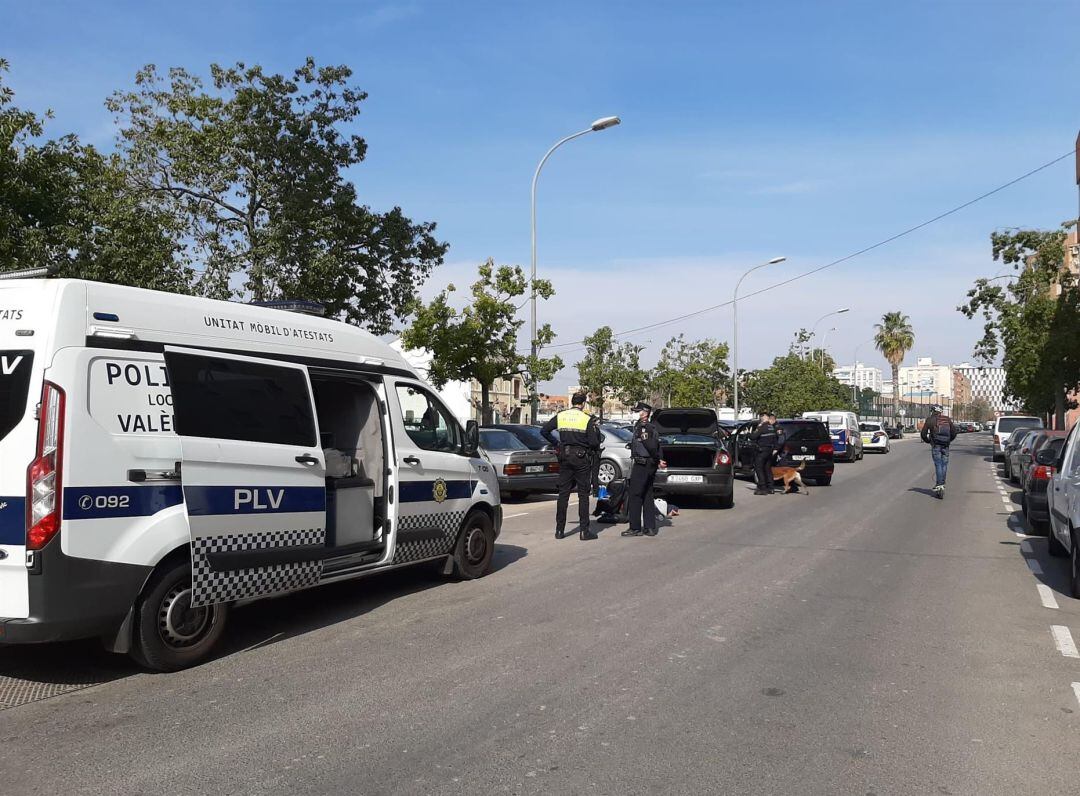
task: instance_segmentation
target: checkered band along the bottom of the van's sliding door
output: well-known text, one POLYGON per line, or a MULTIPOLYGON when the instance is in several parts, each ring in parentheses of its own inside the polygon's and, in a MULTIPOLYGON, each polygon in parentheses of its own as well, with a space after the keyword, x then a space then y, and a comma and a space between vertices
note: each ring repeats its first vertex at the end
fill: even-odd
POLYGON ((315 585, 323 574, 322 561, 216 571, 211 569, 206 558, 211 553, 325 543, 326 531, 324 528, 270 530, 258 534, 229 534, 227 536, 197 538, 191 543, 191 605, 198 607, 291 592, 315 585))

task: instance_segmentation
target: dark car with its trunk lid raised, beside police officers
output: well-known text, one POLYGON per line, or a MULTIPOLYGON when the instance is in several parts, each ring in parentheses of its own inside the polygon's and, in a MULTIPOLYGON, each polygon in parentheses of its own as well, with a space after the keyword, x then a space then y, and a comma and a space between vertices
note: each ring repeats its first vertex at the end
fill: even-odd
POLYGON ((652 413, 660 431, 665 470, 657 472, 654 487, 664 495, 715 498, 720 508, 734 505, 731 437, 713 409, 670 408, 652 413))

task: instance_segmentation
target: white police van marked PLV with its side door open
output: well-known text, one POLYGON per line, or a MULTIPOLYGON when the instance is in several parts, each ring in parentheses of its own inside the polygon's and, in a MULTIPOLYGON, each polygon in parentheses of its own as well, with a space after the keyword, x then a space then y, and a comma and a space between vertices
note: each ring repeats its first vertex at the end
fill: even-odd
POLYGON ((426 561, 480 577, 501 523, 475 423, 366 332, 0 281, 0 643, 176 670, 238 602, 426 561))

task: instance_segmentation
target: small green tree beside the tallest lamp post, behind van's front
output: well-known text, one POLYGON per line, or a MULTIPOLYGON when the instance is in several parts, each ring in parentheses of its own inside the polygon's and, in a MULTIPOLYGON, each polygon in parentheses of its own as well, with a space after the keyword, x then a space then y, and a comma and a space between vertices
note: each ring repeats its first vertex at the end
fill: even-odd
MULTIPOLYGON (((529 280, 519 266, 496 267, 489 259, 480 267, 472 302, 464 309, 450 303, 454 285, 447 285, 431 303, 414 299, 408 306, 413 323, 402 334, 402 345, 431 352, 428 378, 435 387, 447 381, 478 381, 484 423, 491 422, 490 391, 496 379, 531 373, 537 381, 545 381, 563 367, 557 356, 532 360, 517 352, 517 332, 525 322, 516 316, 514 299, 529 291, 529 280)), ((543 299, 555 294, 548 280, 537 280, 536 292, 543 299)), ((537 330, 537 339, 544 346, 554 339, 549 324, 537 330)))

